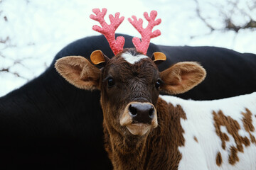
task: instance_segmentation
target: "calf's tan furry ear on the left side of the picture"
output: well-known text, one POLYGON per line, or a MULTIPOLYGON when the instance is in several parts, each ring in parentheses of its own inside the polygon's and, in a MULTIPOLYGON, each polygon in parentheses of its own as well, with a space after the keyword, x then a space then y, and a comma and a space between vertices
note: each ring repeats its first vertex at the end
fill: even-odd
POLYGON ((100 69, 84 57, 68 56, 55 62, 58 73, 79 89, 100 89, 100 69))

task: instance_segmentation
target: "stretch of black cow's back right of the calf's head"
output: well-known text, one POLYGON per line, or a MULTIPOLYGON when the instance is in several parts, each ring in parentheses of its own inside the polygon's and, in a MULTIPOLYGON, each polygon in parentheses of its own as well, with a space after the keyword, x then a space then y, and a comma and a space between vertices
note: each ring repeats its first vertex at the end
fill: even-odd
POLYGON ((221 47, 160 45, 158 47, 161 52, 168 55, 170 64, 194 61, 201 63, 206 69, 206 79, 185 94, 177 95, 181 98, 212 100, 256 91, 256 55, 254 54, 235 52, 221 47))

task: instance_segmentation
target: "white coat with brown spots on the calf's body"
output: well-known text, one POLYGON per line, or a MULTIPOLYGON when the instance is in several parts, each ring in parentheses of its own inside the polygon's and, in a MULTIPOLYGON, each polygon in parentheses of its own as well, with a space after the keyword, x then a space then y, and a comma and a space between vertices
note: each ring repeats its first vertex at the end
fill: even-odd
POLYGON ((216 101, 160 98, 186 114, 178 169, 255 169, 256 93, 216 101))

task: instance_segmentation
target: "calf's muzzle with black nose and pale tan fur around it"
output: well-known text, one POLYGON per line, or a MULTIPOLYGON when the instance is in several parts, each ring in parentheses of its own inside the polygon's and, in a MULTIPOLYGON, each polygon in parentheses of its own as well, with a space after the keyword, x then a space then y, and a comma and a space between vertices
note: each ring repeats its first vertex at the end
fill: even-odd
POLYGON ((120 124, 132 135, 144 135, 157 126, 156 108, 151 103, 133 101, 124 108, 120 124))

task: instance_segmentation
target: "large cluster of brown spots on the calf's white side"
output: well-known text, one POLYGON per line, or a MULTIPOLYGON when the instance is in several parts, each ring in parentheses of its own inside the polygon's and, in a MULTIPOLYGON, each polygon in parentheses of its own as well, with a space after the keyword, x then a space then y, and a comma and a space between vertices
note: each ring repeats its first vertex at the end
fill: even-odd
POLYGON ((250 146, 250 142, 255 143, 255 137, 253 137, 250 133, 255 131, 255 128, 252 125, 252 113, 247 108, 245 110, 246 113, 242 113, 242 123, 245 130, 249 132, 250 139, 239 135, 238 131, 240 130, 240 125, 237 120, 233 120, 233 118, 231 118, 230 116, 225 116, 222 111, 218 111, 218 113, 215 113, 215 111, 213 111, 215 132, 220 137, 223 149, 230 149, 228 161, 232 165, 239 161, 238 152, 243 152, 243 146, 248 147, 250 146), (228 133, 235 140, 235 146, 226 148, 225 142, 229 141, 229 138, 228 135, 225 134, 225 132, 221 132, 220 126, 224 126, 225 128, 227 128, 228 133))

